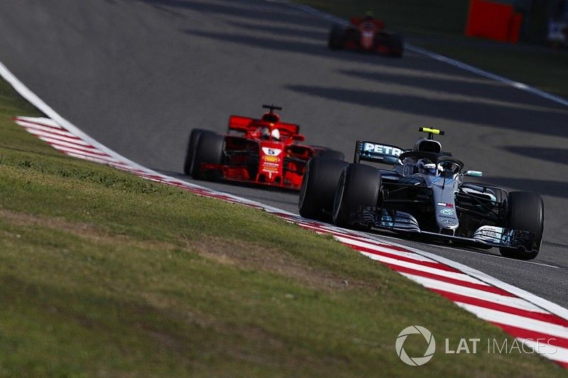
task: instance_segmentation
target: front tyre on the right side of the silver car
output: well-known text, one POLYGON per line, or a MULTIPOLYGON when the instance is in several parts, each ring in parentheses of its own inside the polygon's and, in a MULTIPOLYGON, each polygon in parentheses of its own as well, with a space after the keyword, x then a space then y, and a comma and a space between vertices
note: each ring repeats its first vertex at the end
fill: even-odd
POLYGON ((499 248, 501 255, 519 260, 537 257, 545 228, 545 205, 542 198, 530 191, 511 191, 507 196, 506 228, 530 231, 536 234, 535 250, 499 248))

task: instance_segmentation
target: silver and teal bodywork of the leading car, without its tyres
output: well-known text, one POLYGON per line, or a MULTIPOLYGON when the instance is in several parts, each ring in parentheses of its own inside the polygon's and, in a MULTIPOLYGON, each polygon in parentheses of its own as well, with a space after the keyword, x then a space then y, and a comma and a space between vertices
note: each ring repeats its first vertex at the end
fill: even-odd
MULTIPOLYGON (((443 135, 430 128, 420 131, 443 135)), ((412 150, 357 140, 354 164, 362 160, 394 167, 378 169, 378 204, 351 206, 348 223, 353 226, 425 235, 481 248, 540 248, 541 239, 536 233, 501 227, 506 224, 507 192, 464 183, 464 176, 481 177, 481 172, 462 173, 464 163, 442 152, 442 145, 432 140, 432 134, 417 140, 412 150)))

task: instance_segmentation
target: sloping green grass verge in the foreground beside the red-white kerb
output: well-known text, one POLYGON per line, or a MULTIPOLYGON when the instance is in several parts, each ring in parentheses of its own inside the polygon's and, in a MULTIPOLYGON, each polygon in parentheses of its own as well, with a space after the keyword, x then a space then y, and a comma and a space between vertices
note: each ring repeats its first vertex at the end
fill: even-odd
POLYGON ((1 376, 564 374, 444 355, 444 338, 506 336, 329 237, 60 155, 0 96, 1 376), (438 340, 420 368, 394 351, 414 324, 438 340))

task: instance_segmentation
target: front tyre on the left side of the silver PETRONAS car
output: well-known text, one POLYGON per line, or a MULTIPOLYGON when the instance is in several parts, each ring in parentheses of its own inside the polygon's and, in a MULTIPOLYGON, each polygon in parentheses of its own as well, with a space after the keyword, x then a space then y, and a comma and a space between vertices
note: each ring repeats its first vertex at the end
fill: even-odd
POLYGON ((333 206, 333 222, 351 227, 349 215, 356 206, 377 206, 381 194, 381 172, 364 164, 350 164, 343 170, 333 206))

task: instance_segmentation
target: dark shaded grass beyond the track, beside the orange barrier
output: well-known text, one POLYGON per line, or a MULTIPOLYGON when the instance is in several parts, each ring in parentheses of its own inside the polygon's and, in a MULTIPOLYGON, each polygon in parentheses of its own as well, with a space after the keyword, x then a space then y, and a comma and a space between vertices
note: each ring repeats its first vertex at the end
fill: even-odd
POLYGON ((408 42, 568 99, 568 53, 468 38, 469 0, 296 0, 342 18, 374 11, 408 42))

